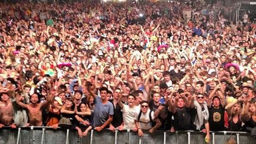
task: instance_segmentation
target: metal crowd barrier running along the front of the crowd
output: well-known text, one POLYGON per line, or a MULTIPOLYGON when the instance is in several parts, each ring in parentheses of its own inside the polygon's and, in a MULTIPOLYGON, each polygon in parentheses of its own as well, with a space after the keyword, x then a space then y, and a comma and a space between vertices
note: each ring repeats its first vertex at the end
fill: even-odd
MULTIPOLYGON (((194 144, 194 143, 206 143, 204 141, 205 133, 195 132, 191 130, 177 131, 174 133, 164 132, 156 130, 154 133, 148 133, 144 130, 143 137, 137 136, 136 132, 130 130, 123 130, 111 132, 110 130, 102 130, 97 132, 91 130, 87 137, 80 138, 76 130, 69 129, 52 129, 52 127, 19 127, 18 129, 10 129, 4 127, 0 129, 0 144, 23 144, 23 143, 61 143, 61 144, 73 144, 73 143, 113 143, 113 144, 133 144, 133 143, 175 143, 175 144, 194 144)), ((230 138, 236 140, 238 144, 255 144, 256 139, 251 137, 246 132, 211 132, 212 144, 226 143, 230 138)))

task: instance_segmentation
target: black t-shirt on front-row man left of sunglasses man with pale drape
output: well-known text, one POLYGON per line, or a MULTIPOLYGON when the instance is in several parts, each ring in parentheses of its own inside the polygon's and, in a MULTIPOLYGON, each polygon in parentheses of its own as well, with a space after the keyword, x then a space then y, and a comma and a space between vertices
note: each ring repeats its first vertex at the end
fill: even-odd
POLYGON ((190 130, 191 129, 191 109, 177 108, 174 114, 174 129, 175 130, 190 130))

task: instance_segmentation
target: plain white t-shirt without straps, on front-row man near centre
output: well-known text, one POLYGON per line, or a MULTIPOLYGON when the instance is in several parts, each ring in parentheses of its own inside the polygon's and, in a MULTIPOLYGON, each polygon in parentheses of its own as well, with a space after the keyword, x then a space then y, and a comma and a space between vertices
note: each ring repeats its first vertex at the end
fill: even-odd
POLYGON ((133 129, 135 126, 135 114, 140 111, 139 106, 129 107, 129 105, 123 105, 123 122, 124 129, 133 129))

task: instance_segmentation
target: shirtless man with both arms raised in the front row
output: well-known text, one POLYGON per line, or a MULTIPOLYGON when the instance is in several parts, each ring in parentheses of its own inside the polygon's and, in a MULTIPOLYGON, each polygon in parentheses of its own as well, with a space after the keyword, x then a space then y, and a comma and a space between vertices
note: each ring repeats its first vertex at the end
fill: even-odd
POLYGON ((39 103, 39 95, 38 94, 32 94, 30 97, 30 104, 24 104, 21 103, 20 99, 18 98, 19 95, 16 95, 16 103, 20 105, 23 108, 26 108, 28 110, 28 117, 30 123, 29 126, 42 126, 43 120, 42 120, 42 113, 41 108, 49 104, 49 94, 47 94, 47 100, 43 103, 39 103))

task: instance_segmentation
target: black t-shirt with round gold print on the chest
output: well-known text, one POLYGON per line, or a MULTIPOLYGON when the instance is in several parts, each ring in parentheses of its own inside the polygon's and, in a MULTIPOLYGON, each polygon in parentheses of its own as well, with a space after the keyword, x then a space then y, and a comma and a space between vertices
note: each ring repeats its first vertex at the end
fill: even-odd
POLYGON ((209 110, 210 130, 212 131, 225 130, 225 122, 224 122, 225 108, 223 108, 222 105, 220 105, 218 109, 212 106, 212 107, 209 107, 208 110, 209 110))

